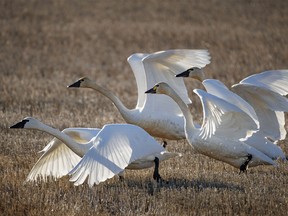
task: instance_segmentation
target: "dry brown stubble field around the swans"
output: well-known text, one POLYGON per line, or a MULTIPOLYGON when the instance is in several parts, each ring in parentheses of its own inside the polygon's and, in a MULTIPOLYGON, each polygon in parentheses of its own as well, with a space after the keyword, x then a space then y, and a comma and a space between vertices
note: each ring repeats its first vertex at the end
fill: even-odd
MULTIPOLYGON (((23 184, 52 137, 9 129, 26 116, 61 130, 123 123, 104 96, 66 86, 87 76, 133 108, 137 87, 126 59, 136 52, 208 49, 206 75, 227 86, 287 69, 287 11, 283 0, 0 1, 0 215, 287 215, 287 163, 239 175, 194 154, 184 140, 169 141, 183 156, 160 164, 169 181, 162 186, 154 185, 152 169, 93 188, 67 177, 23 184)), ((202 87, 186 84, 201 122, 192 89, 202 87)), ((288 154, 287 140, 280 145, 288 154)))

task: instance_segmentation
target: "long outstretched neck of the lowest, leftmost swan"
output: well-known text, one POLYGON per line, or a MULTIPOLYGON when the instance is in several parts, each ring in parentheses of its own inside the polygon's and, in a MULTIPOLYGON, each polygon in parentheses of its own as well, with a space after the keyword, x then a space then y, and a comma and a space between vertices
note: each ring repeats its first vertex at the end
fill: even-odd
POLYGON ((87 144, 80 144, 73 140, 71 137, 69 137, 67 134, 52 128, 48 125, 45 125, 41 122, 39 122, 37 127, 33 129, 37 129, 40 131, 44 131, 46 133, 49 133, 50 135, 58 138, 61 140, 68 148, 70 148, 75 154, 77 154, 80 157, 83 157, 84 154, 90 149, 90 147, 93 145, 92 143, 88 142, 87 144), (39 124, 40 123, 40 124, 39 124))

